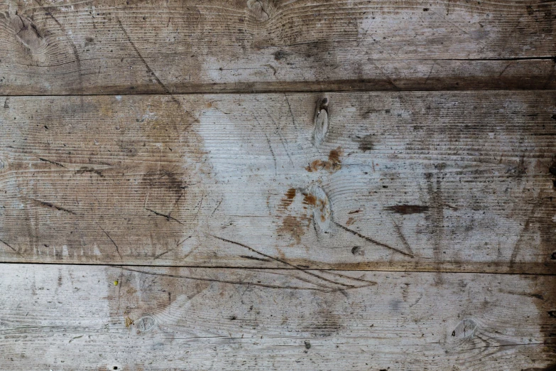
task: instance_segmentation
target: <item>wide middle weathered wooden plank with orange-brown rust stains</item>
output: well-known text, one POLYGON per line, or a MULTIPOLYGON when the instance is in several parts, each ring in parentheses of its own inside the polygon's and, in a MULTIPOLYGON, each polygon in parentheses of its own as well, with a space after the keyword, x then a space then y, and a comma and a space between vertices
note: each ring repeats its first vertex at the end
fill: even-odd
POLYGON ((4 262, 554 273, 556 92, 0 98, 4 262))

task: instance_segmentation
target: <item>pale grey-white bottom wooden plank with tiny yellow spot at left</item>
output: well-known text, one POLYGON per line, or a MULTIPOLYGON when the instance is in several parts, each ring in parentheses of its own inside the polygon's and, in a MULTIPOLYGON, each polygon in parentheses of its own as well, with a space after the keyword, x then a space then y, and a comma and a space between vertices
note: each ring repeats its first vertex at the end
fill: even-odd
POLYGON ((0 271, 2 370, 539 371, 556 362, 555 276, 0 271))

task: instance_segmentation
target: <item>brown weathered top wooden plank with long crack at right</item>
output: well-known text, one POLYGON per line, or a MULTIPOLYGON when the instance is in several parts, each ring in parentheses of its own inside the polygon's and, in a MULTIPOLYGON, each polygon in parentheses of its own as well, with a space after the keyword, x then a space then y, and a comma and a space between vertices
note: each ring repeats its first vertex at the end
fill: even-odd
POLYGON ((554 89, 550 1, 0 4, 0 94, 554 89))

